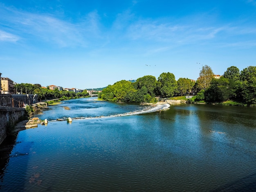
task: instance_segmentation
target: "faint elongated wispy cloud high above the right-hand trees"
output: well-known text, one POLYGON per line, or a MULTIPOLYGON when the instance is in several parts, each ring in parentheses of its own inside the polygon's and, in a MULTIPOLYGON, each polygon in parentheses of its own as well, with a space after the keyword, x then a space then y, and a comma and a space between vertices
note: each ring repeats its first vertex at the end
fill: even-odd
POLYGON ((144 39, 153 42, 187 44, 216 38, 223 27, 198 27, 172 23, 140 21, 130 25, 128 36, 133 40, 144 39))

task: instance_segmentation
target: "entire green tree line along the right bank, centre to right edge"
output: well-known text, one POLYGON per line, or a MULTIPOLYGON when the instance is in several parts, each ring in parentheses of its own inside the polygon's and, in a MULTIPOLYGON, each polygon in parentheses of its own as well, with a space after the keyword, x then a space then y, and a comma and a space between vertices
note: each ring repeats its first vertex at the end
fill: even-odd
POLYGON ((217 79, 211 67, 205 65, 195 82, 188 78, 176 81, 170 72, 162 73, 158 79, 150 75, 143 76, 134 83, 121 80, 104 88, 99 98, 126 103, 152 103, 156 101, 156 96, 170 98, 187 94, 194 95, 191 102, 235 100, 252 105, 256 101, 256 67, 249 66, 240 71, 231 66, 217 79))

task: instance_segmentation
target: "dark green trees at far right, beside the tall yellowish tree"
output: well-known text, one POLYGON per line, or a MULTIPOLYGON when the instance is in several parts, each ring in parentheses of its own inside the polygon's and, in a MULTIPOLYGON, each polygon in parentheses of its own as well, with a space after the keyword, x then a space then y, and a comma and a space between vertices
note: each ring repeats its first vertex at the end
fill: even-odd
POLYGON ((200 90, 200 96, 197 94, 197 100, 208 103, 234 100, 247 106, 256 102, 256 66, 249 66, 242 71, 231 66, 222 77, 212 78, 206 84, 207 86, 200 90))

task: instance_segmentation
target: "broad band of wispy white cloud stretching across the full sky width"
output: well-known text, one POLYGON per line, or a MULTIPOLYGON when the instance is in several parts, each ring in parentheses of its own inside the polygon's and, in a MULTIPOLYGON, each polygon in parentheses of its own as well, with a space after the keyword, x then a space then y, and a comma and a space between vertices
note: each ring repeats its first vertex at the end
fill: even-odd
MULTIPOLYGON (((0 29, 0 41, 39 41, 57 47, 93 49, 111 44, 126 46, 141 42, 142 45, 162 44, 163 49, 155 49, 158 52, 165 51, 166 47, 207 43, 223 37, 255 35, 256 31, 255 26, 214 24, 204 18, 191 18, 190 23, 182 22, 181 19, 137 18, 130 9, 117 14, 110 28, 103 27, 104 16, 101 18, 97 11, 88 13, 79 22, 56 18, 50 14, 19 11, 2 4, 0 11, 4 13, 0 22, 5 26, 0 29), (193 19, 197 22, 193 22, 193 19)), ((239 46, 240 43, 234 45, 239 46)))

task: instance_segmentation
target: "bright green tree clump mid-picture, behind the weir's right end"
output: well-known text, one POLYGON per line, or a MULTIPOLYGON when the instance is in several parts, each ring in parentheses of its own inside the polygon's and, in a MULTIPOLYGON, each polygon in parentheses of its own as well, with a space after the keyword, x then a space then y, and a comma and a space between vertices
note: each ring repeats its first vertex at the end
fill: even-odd
POLYGON ((162 73, 158 79, 148 75, 138 78, 134 83, 127 80, 118 81, 103 89, 99 98, 125 103, 152 103, 156 101, 156 96, 168 98, 177 94, 177 91, 181 95, 190 93, 194 84, 188 78, 176 81, 174 74, 168 72, 162 73))

